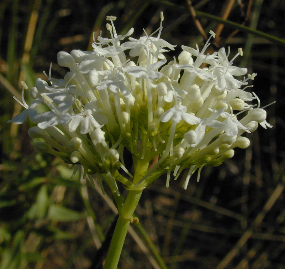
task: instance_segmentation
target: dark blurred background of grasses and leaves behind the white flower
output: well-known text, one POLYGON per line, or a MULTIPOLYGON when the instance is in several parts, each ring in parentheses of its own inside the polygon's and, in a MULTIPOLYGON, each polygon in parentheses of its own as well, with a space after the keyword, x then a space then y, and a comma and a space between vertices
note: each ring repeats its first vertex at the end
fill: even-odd
MULTIPOLYGON (((7 124, 22 107, 20 81, 30 87, 52 76, 62 78, 57 52, 90 50, 93 32, 109 36, 106 15, 117 16, 117 33, 135 28, 132 37, 159 27, 162 38, 201 48, 203 31, 217 33, 210 50, 239 47, 235 65, 257 73, 253 91, 266 108, 272 129, 261 126, 246 150, 223 165, 202 170, 188 189, 165 177, 142 194, 119 268, 285 268, 284 197, 284 16, 285 1, 54 1, 0 3, 0 269, 90 268, 96 249, 111 234, 116 217, 108 195, 76 177, 62 160, 33 150, 27 134, 33 123, 7 124), (193 18, 196 18, 194 22, 193 18), (253 35, 230 20, 258 30, 253 35), (198 27, 198 25, 200 25, 198 27), (202 29, 202 30, 201 30, 202 29), (270 36, 277 37, 273 40, 270 36), (266 37, 266 38, 265 38, 266 37), (151 243, 152 242, 152 243, 151 243), (161 257, 163 261, 161 261, 161 257)), ((210 51, 211 52, 211 51, 210 51)), ((29 96, 25 96, 29 103, 29 96)), ((104 246, 104 244, 103 244, 104 246)), ((98 254, 98 253, 97 253, 98 254)), ((106 255, 99 252, 98 267, 106 255)))

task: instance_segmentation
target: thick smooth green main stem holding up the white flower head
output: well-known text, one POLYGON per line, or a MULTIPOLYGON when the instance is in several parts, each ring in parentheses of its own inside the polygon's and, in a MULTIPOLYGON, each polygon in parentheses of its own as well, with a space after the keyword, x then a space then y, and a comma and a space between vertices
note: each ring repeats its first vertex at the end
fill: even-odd
MULTIPOLYGON (((145 172, 148 169, 148 161, 145 160, 134 160, 135 165, 135 176, 133 183, 134 185, 139 182, 139 180, 145 175, 145 172)), ((105 261, 104 268, 105 269, 116 269, 120 255, 122 252, 122 248, 124 245, 124 241, 126 238, 126 234, 128 231, 128 226, 130 221, 133 219, 133 213, 139 199, 141 197, 142 189, 138 190, 129 190, 126 200, 119 212, 119 218, 116 224, 116 228, 113 233, 113 237, 111 240, 111 244, 109 247, 109 251, 107 254, 107 258, 105 261)))

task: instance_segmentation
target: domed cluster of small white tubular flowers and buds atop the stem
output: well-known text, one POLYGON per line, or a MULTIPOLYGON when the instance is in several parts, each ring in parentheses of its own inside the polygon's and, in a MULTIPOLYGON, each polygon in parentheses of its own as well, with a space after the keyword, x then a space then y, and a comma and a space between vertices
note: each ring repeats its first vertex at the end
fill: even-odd
POLYGON ((235 78, 247 73, 232 65, 242 49, 230 61, 225 48, 205 54, 215 36, 210 31, 201 51, 182 46, 178 59, 166 64, 163 53, 175 46, 160 38, 162 13, 152 35, 129 37, 122 44, 134 30, 117 35, 115 19, 107 16, 111 38, 99 36, 93 51, 58 53, 58 64, 70 69, 64 79, 51 74, 49 82, 37 79, 30 90, 34 101, 18 101, 25 110, 11 121, 21 124, 29 117, 37 123, 29 129, 30 137, 44 140, 34 144, 36 150, 82 165, 85 173, 101 179, 103 175, 114 186, 116 180, 131 186, 118 173, 123 169, 131 176, 124 166, 126 148, 133 158, 157 158, 138 184, 145 187, 153 173, 167 172, 168 185, 171 172, 176 179, 187 168, 186 189, 197 169, 199 177, 203 166, 217 166, 234 155, 233 148, 248 147, 244 132, 256 130, 258 123, 272 127, 256 94, 246 91, 247 81, 256 74, 235 78), (126 58, 126 50, 132 60, 126 58), (257 107, 248 103, 254 99, 257 107), (39 104, 47 111, 39 113, 39 104))

